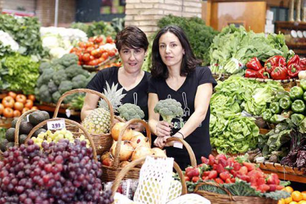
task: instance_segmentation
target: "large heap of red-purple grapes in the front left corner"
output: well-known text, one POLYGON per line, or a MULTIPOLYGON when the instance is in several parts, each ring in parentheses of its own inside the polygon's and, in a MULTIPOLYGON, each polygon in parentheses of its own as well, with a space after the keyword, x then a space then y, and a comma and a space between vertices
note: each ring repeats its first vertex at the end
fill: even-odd
POLYGON ((60 140, 10 147, 0 162, 0 204, 100 203, 114 201, 101 192, 101 164, 93 160, 86 142, 60 140))

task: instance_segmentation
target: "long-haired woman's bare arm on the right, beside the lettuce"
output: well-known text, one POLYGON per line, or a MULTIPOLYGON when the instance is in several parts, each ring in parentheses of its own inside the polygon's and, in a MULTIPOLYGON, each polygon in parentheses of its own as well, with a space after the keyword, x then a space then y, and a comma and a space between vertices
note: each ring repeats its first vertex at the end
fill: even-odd
MULTIPOLYGON (((205 119, 212 93, 213 85, 211 83, 198 86, 194 100, 194 112, 179 131, 184 135, 184 138, 188 137, 193 131, 195 131, 198 125, 205 119)), ((174 136, 182 138, 180 133, 176 133, 174 136)), ((164 138, 164 141, 166 139, 167 137, 164 138)))

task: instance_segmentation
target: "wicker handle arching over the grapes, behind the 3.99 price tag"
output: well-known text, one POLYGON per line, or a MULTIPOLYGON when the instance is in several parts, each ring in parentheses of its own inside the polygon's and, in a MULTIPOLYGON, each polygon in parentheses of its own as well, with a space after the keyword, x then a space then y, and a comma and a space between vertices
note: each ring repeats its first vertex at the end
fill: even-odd
POLYGON ((87 132, 87 130, 80 123, 75 122, 73 120, 66 119, 66 118, 50 118, 50 119, 42 121, 41 123, 39 123, 35 127, 33 127, 31 132, 29 133, 28 137, 25 139, 24 143, 26 143, 32 137, 32 135, 35 133, 35 131, 37 131, 41 126, 47 124, 48 121, 55 121, 55 120, 65 120, 66 123, 69 123, 69 124, 72 124, 72 125, 75 125, 75 126, 79 127, 79 129, 81 129, 83 131, 83 133, 86 135, 87 139, 89 140, 90 146, 92 148, 93 159, 95 161, 97 161, 97 152, 94 148, 94 143, 93 143, 93 140, 92 140, 90 134, 87 132))

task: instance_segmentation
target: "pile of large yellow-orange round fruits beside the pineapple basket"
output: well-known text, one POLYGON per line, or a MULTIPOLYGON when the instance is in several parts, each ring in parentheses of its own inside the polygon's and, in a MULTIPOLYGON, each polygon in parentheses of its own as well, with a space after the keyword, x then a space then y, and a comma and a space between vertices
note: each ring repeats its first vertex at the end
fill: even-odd
MULTIPOLYGON (((115 157, 115 150, 117 145, 117 140, 119 138, 119 134, 123 131, 125 127, 124 122, 117 122, 111 131, 112 137, 114 139, 114 143, 111 147, 110 152, 106 152, 101 156, 101 161, 103 165, 112 166, 115 157)), ((145 137, 142 133, 138 131, 134 131, 132 129, 125 130, 122 141, 120 143, 120 152, 119 152, 119 160, 120 167, 124 167, 130 163, 130 161, 134 161, 140 159, 145 156, 159 156, 159 157, 167 157, 165 152, 160 148, 151 148, 149 139, 145 137)))

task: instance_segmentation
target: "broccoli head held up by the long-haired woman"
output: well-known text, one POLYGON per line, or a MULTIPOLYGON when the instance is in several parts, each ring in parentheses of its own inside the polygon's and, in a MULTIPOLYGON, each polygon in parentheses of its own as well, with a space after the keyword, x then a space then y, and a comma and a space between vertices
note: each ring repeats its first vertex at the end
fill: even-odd
POLYGON ((163 120, 169 124, 173 118, 183 116, 184 114, 182 104, 172 98, 158 101, 154 108, 154 112, 159 113, 163 120))

